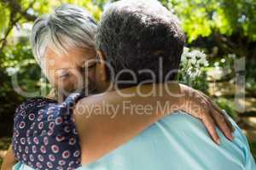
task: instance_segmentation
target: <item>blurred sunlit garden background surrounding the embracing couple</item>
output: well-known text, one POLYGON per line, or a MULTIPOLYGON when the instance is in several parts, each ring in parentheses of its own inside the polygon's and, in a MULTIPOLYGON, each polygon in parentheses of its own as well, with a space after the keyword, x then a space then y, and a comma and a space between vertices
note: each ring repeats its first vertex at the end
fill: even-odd
MULTIPOLYGON (((236 120, 256 157, 256 0, 160 2, 181 20, 186 46, 207 54, 208 64, 189 85, 210 95, 236 120)), ((17 94, 11 77, 18 75, 23 91, 49 90, 32 57, 29 35, 33 21, 61 3, 86 8, 100 20, 109 0, 0 0, 0 165, 10 143, 15 108, 25 99, 17 94)))

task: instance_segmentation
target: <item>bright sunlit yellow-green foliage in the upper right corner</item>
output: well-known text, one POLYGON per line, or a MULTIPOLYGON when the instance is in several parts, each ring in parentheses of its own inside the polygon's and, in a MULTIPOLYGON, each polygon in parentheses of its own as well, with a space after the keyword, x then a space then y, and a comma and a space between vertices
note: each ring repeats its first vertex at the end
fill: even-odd
POLYGON ((255 0, 171 0, 167 5, 182 20, 189 42, 214 31, 225 36, 239 33, 256 41, 255 0))

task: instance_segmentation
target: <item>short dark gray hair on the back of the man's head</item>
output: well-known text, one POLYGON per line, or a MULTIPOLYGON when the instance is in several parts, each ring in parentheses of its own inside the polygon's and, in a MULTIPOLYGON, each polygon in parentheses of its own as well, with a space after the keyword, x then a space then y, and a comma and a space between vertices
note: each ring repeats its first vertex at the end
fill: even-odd
MULTIPOLYGON (((102 14, 96 32, 96 48, 106 56, 119 80, 137 83, 173 80, 177 75, 184 34, 177 17, 156 0, 121 0, 112 3, 102 14), (162 63, 162 64, 161 64, 162 63), (160 68, 162 67, 162 68, 160 68), (171 71, 171 72, 170 72, 171 71)), ((111 81, 113 79, 108 71, 111 81)), ((136 84, 133 84, 136 85, 136 84)))

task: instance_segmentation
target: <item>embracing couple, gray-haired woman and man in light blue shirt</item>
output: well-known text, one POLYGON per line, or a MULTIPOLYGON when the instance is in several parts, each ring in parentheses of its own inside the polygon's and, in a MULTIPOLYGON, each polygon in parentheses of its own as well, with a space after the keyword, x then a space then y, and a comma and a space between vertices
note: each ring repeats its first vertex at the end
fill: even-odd
POLYGON ((3 169, 256 169, 236 122, 175 82, 184 39, 156 0, 112 3, 98 26, 68 4, 39 17, 32 50, 55 90, 16 109, 3 169))

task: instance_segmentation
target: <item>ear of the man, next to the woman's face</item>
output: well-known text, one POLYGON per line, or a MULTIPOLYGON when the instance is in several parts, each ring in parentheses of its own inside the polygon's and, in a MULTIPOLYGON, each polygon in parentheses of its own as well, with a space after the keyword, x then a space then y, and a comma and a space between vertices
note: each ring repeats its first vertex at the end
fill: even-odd
POLYGON ((108 81, 108 75, 107 75, 107 66, 106 66, 106 58, 105 55, 100 50, 96 50, 97 57, 98 57, 98 71, 99 71, 99 77, 102 82, 108 81))

